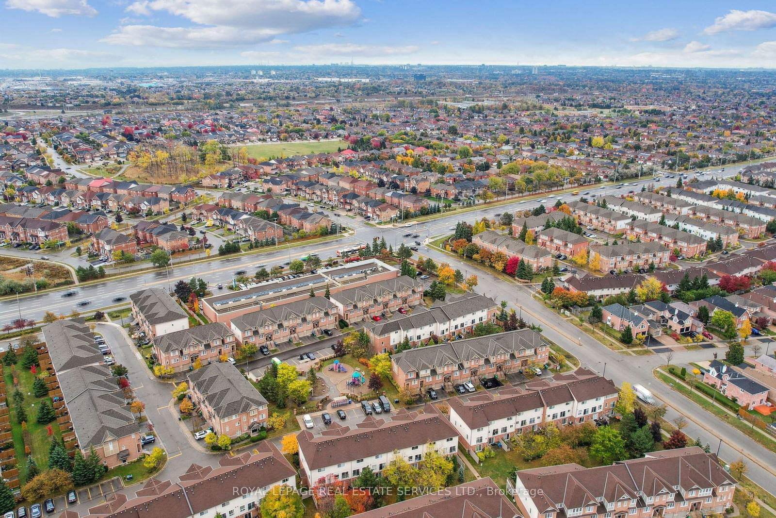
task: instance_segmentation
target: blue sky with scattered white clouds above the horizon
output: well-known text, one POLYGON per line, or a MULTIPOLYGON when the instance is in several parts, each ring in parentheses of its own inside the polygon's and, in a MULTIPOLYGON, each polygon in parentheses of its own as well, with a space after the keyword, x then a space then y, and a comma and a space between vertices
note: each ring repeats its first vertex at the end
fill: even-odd
POLYGON ((776 68, 776 2, 0 0, 0 69, 505 64, 776 68))

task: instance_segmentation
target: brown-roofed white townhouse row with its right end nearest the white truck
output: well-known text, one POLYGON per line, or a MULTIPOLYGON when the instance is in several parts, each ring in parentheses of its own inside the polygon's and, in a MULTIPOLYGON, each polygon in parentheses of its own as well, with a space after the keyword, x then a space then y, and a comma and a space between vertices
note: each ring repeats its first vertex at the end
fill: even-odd
POLYGON ((611 415, 618 388, 590 370, 558 374, 553 380, 483 391, 467 400, 449 400, 449 419, 462 447, 472 456, 483 448, 553 422, 573 425, 611 415))

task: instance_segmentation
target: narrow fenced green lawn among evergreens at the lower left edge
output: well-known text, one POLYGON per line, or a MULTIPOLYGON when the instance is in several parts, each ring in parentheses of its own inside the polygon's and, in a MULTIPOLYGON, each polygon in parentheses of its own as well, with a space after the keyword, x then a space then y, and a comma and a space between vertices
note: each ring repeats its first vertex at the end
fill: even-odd
MULTIPOLYGON (((19 425, 16 420, 17 407, 13 402, 14 388, 12 368, 5 367, 3 374, 5 377, 5 387, 8 390, 9 406, 11 408, 12 436, 13 446, 16 449, 16 461, 19 466, 19 475, 24 479, 26 477, 27 456, 24 453, 22 426, 19 425)), ((27 431, 29 432, 30 442, 29 449, 32 451, 32 456, 35 459, 36 464, 38 464, 38 468, 43 470, 48 466, 48 451, 51 444, 51 436, 48 435, 47 426, 51 426, 52 436, 57 437, 57 439, 61 439, 62 433, 56 421, 52 421, 48 425, 40 425, 36 422, 40 402, 48 400, 50 403, 51 398, 48 396, 36 398, 33 395, 33 380, 35 375, 29 372, 29 370, 23 369, 20 363, 16 365, 16 374, 19 377, 19 391, 22 391, 22 394, 24 395, 24 409, 27 413, 27 431)))

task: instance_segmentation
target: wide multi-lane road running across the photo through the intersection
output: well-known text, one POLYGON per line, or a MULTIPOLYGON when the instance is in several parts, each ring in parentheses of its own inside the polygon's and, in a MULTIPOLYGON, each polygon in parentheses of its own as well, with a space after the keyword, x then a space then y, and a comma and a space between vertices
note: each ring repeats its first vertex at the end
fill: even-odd
MULTIPOLYGON (((736 167, 728 168, 725 173, 726 175, 733 175, 737 169, 738 168, 736 167)), ((707 175, 709 178, 711 176, 712 175, 707 175)), ((590 193, 588 196, 621 195, 627 193, 629 190, 639 190, 642 185, 649 183, 653 183, 656 186, 671 186, 676 183, 676 178, 669 179, 660 177, 657 179, 642 179, 636 183, 628 183, 629 186, 610 184, 604 187, 590 186, 589 188, 580 188, 580 195, 578 196, 572 196, 570 193, 535 196, 531 200, 515 200, 511 203, 506 203, 497 207, 483 207, 480 210, 473 210, 464 214, 456 214, 456 212, 453 212, 449 216, 417 223, 409 228, 404 228, 401 225, 397 225, 396 227, 374 226, 363 223, 360 218, 352 219, 351 217, 346 216, 334 217, 339 223, 354 229, 354 232, 348 237, 331 242, 305 245, 296 248, 286 247, 284 249, 281 244, 276 251, 260 254, 227 256, 222 259, 211 259, 206 262, 196 262, 184 264, 182 266, 173 265, 162 269, 154 269, 149 266, 149 269, 139 271, 129 277, 116 280, 109 279, 102 283, 93 283, 83 287, 71 287, 69 290, 75 290, 77 292, 72 297, 63 297, 64 291, 68 290, 58 290, 44 294, 19 297, 18 303, 15 298, 7 299, 0 302, 0 323, 12 322, 12 320, 19 318, 19 313, 21 313, 22 318, 40 320, 46 311, 53 311, 54 313, 64 315, 68 315, 73 309, 93 311, 97 308, 105 308, 120 304, 120 302, 116 302, 114 299, 118 297, 128 297, 137 290, 147 287, 169 288, 175 285, 178 280, 189 280, 194 276, 202 277, 210 283, 210 287, 216 292, 217 284, 222 283, 226 285, 227 283, 230 283, 234 278, 235 272, 238 270, 246 270, 248 274, 253 274, 261 266, 265 266, 269 269, 272 266, 282 265, 293 259, 298 259, 310 252, 317 252, 322 259, 325 259, 329 256, 335 256, 338 249, 352 246, 355 242, 372 242, 372 238, 375 237, 385 238, 386 242, 393 245, 394 248, 402 242, 411 245, 412 242, 415 241, 415 238, 404 238, 404 235, 410 232, 414 235, 419 235, 420 238, 417 238, 417 240, 423 242, 424 239, 430 238, 431 236, 442 235, 449 232, 451 228, 455 227, 458 221, 473 223, 476 219, 480 219, 481 217, 495 217, 495 214, 504 213, 510 210, 532 209, 541 204, 539 203, 540 200, 545 200, 543 204, 549 207, 556 202, 558 196, 562 200, 573 200, 582 196, 582 193, 590 193), (81 301, 88 301, 90 304, 88 306, 78 307, 76 304, 81 301)), ((425 249, 421 249, 421 255, 428 255, 426 254, 425 249)))

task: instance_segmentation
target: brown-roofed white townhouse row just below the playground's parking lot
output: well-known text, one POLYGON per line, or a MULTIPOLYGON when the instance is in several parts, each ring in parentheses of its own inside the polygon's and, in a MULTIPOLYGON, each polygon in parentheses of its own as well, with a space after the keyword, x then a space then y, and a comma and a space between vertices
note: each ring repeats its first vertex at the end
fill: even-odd
POLYGON ((311 486, 320 478, 355 478, 366 467, 382 473, 394 458, 415 465, 430 448, 446 456, 458 451, 456 429, 433 405, 426 405, 423 413, 402 408, 390 421, 368 416, 356 428, 332 424, 325 435, 305 429, 296 440, 300 477, 311 486))

